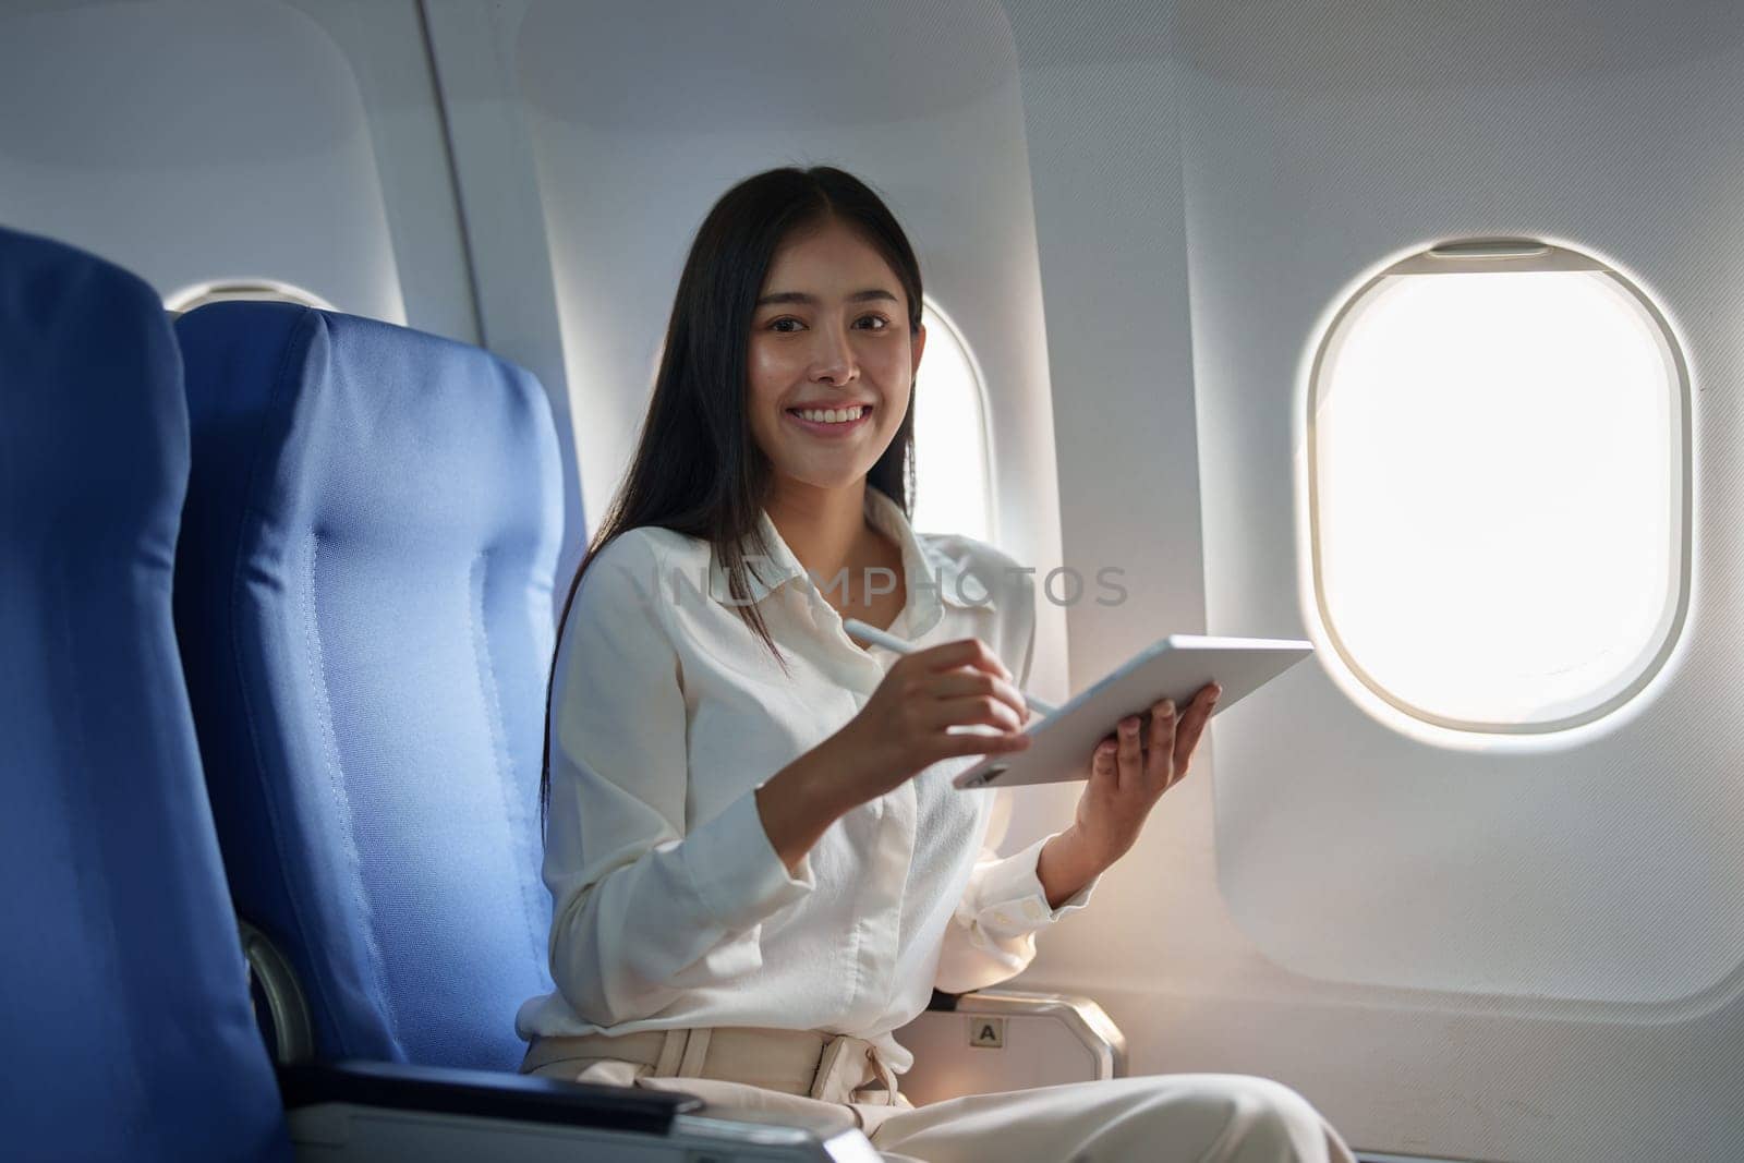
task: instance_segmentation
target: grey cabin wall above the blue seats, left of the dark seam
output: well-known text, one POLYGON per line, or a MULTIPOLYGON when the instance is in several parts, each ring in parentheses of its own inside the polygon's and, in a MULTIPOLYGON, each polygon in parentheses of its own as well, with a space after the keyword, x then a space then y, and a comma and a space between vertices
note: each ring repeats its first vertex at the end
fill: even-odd
POLYGON ((469 337, 417 9, 349 7, 9 5, 0 220, 162 295, 265 277, 469 337))

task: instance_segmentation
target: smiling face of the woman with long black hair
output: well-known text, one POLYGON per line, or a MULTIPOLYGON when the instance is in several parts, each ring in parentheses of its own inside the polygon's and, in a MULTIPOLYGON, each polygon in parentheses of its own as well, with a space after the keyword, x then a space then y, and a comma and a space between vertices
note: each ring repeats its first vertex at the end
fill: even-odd
POLYGON ((865 478, 902 427, 924 345, 926 328, 909 335, 896 272, 858 234, 832 220, 790 235, 750 337, 752 436, 778 481, 844 488, 865 478), (842 422, 855 408, 858 418, 842 422))

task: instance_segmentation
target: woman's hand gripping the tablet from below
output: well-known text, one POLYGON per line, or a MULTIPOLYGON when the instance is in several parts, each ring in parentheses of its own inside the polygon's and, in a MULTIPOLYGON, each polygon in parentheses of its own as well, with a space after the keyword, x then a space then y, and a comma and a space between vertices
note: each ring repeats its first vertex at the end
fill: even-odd
POLYGON ((1139 734, 1137 715, 1123 718, 1092 753, 1078 818, 1060 839, 1071 837, 1080 856, 1100 868, 1125 856, 1156 800, 1188 774, 1219 694, 1223 687, 1205 684, 1179 717, 1174 701, 1163 699, 1151 708, 1148 739, 1139 734))

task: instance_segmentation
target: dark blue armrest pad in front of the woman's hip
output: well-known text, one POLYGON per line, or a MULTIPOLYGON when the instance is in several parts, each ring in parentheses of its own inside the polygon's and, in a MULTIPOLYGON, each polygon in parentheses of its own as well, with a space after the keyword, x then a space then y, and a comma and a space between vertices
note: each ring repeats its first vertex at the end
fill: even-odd
POLYGON ((394 1111, 560 1123, 664 1135, 675 1114, 703 1100, 677 1092, 562 1083, 494 1071, 452 1071, 398 1062, 323 1062, 279 1067, 284 1107, 349 1102, 394 1111))

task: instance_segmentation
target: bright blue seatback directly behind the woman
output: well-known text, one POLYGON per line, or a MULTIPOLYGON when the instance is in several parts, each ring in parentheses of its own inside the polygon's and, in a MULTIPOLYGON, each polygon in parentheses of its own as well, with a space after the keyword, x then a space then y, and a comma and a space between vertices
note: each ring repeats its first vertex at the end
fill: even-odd
POLYGON ((330 1058, 513 1069, 548 992, 539 762, 562 528, 539 384, 290 303, 176 323, 176 631, 232 893, 330 1058))

